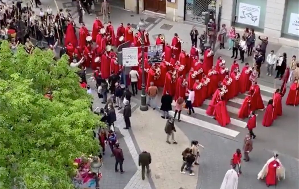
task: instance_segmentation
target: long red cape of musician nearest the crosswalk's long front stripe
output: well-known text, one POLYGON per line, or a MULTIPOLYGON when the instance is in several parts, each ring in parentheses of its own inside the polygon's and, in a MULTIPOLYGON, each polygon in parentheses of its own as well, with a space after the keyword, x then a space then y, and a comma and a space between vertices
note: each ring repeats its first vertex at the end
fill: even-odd
POLYGON ((231 122, 231 118, 229 117, 228 111, 226 109, 226 102, 225 101, 219 101, 215 105, 215 110, 213 115, 215 116, 215 119, 221 125, 222 127, 225 127, 231 122))

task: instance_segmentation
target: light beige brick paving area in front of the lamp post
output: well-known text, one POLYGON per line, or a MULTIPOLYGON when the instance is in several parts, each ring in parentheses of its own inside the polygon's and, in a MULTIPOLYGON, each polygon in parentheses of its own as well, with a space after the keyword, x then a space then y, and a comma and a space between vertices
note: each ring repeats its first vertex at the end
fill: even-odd
POLYGON ((131 117, 132 131, 142 150, 151 153, 151 175, 157 189, 196 188, 198 167, 193 167, 195 176, 180 173, 181 152, 190 146, 190 141, 180 128, 176 127, 175 139, 178 144, 166 143, 164 126, 158 111, 152 109, 142 112, 139 109, 131 117))

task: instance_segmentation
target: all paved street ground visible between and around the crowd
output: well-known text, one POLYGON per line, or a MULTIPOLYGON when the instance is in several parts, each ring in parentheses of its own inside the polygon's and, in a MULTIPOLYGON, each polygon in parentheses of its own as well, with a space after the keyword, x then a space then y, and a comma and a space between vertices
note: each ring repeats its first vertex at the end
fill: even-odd
MULTIPOLYGON (((41 0, 44 9, 50 4, 53 12, 56 12, 56 5, 52 0, 41 0)), ((58 6, 68 8, 77 26, 78 18, 76 18, 76 7, 71 0, 57 0, 58 6)), ((95 15, 101 16, 99 6, 96 5, 95 13, 92 16, 84 15, 83 21, 89 30, 92 28, 95 15)), ((39 13, 38 9, 36 12, 39 13)), ((112 7, 111 21, 116 31, 120 22, 131 23, 136 26, 140 17, 145 18, 147 22, 147 31, 152 36, 151 44, 155 43, 156 36, 161 33, 165 36, 166 41, 170 42, 173 34, 178 33, 184 44, 182 47, 188 52, 190 50, 189 32, 191 25, 171 22, 162 18, 137 15, 132 12, 112 7)), ((100 19, 102 19, 100 17, 100 19)), ((201 33, 204 28, 198 26, 197 29, 201 33)), ((257 36, 258 37, 258 36, 257 36)), ((258 43, 258 42, 257 42, 258 43)), ((228 45, 225 44, 227 47, 228 45)), ((288 62, 292 55, 299 58, 299 50, 296 48, 281 46, 279 44, 270 43, 267 47, 267 53, 271 50, 277 55, 287 53, 288 62)), ((218 49, 215 53, 216 58, 221 55, 226 60, 228 68, 231 67, 233 59, 231 59, 231 51, 227 49, 218 49)), ((245 55, 246 57, 246 55, 245 55)), ((245 62, 252 64, 252 57, 246 57, 245 62)), ((243 64, 239 64, 242 69, 243 64)), ((91 73, 91 70, 89 70, 91 73)), ((89 75, 90 76, 90 75, 89 75)), ((275 88, 280 88, 281 80, 274 81, 274 76, 266 76, 266 66, 261 67, 261 76, 258 79, 261 94, 266 105, 272 97, 275 88)), ((89 85, 93 87, 95 82, 90 81, 89 85)), ((156 98, 157 104, 160 106, 161 91, 156 98)), ((280 116, 271 127, 263 127, 261 120, 264 111, 257 111, 257 128, 254 133, 257 138, 253 140, 253 151, 250 154, 250 162, 242 162, 243 174, 239 178, 239 188, 241 189, 263 189, 267 188, 263 181, 256 179, 257 173, 262 169, 266 161, 271 157, 272 152, 279 154, 279 159, 286 168, 286 179, 279 182, 275 188, 299 188, 298 170, 299 170, 299 127, 298 127, 298 107, 286 106, 286 96, 283 97, 283 116, 280 116)), ((141 92, 139 92, 141 94, 141 92)), ((103 107, 101 99, 93 91, 94 108, 103 107)), ((110 157, 110 149, 104 156, 103 178, 100 181, 100 187, 103 189, 217 189, 220 187, 222 179, 229 169, 230 159, 237 148, 242 149, 243 139, 248 130, 245 128, 247 119, 240 120, 237 118, 237 111, 242 104, 245 95, 238 95, 236 98, 228 102, 227 109, 231 116, 231 124, 227 127, 220 127, 218 123, 205 114, 208 107, 209 99, 205 100, 202 107, 195 108, 195 114, 187 116, 187 112, 183 111, 181 120, 176 122, 176 140, 177 145, 168 145, 165 143, 166 134, 164 132, 165 120, 161 119, 159 111, 149 109, 147 112, 139 110, 140 96, 132 99, 132 129, 123 130, 124 121, 120 113, 117 113, 117 122, 115 122, 117 136, 120 146, 124 152, 124 170, 126 173, 120 175, 114 172, 114 158, 110 157), (205 149, 202 150, 199 167, 193 167, 195 176, 182 175, 179 173, 181 166, 181 152, 190 146, 191 140, 198 140, 205 149), (141 169, 138 167, 138 154, 141 150, 146 150, 152 155, 151 170, 149 178, 141 180, 141 169), (199 169, 198 169, 199 168, 199 169)), ((174 107, 173 107, 174 110, 174 107)), ((173 113, 173 112, 172 112, 173 113)), ((271 188, 271 187, 270 187, 271 188)), ((272 187, 274 188, 274 187, 272 187)))

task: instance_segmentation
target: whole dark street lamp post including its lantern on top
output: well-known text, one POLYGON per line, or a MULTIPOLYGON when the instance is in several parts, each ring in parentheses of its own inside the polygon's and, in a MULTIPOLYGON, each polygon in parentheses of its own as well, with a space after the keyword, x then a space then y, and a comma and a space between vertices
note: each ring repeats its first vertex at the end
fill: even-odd
POLYGON ((143 21, 143 18, 140 18, 140 22, 138 23, 137 29, 141 33, 141 52, 142 52, 142 58, 141 58, 141 65, 142 65, 142 84, 141 84, 141 111, 147 111, 147 95, 145 93, 145 73, 144 73, 144 31, 145 31, 146 24, 143 21))

